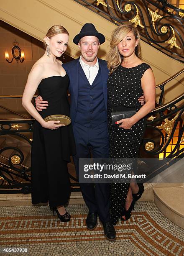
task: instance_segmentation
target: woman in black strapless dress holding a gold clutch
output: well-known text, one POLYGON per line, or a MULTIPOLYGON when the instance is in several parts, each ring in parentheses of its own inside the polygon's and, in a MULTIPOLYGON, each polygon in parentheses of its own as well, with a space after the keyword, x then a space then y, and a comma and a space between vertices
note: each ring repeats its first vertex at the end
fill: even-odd
POLYGON ((68 40, 69 33, 63 26, 55 25, 48 30, 44 38, 45 54, 33 65, 22 99, 24 108, 35 118, 31 151, 32 203, 49 202, 62 222, 70 220, 64 205, 70 195, 67 163, 75 154, 74 136, 71 124, 64 126, 59 120, 46 122, 44 118, 69 116, 69 77, 62 62, 56 59, 66 51, 68 40), (37 88, 47 106, 39 113, 31 102, 37 88))

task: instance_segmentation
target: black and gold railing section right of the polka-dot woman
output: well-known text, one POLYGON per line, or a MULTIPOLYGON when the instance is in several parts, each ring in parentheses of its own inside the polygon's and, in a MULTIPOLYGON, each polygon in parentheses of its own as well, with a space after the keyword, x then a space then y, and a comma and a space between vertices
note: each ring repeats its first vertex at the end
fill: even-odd
POLYGON ((184 147, 181 147, 181 143, 184 142, 184 121, 181 118, 184 113, 184 93, 170 102, 162 104, 167 84, 183 73, 184 69, 181 69, 175 75, 156 86, 156 88, 160 88, 161 95, 158 106, 147 116, 146 133, 148 136, 145 135, 143 138, 140 156, 141 158, 159 159, 161 153, 167 152, 168 146, 170 146, 171 150, 168 151, 167 156, 165 154, 164 159, 159 161, 159 164, 156 161, 155 165, 152 163, 153 165, 149 168, 146 165, 147 180, 160 174, 169 165, 184 157, 184 147), (177 134, 175 135, 176 130, 177 134), (176 141, 171 143, 173 138, 176 141))

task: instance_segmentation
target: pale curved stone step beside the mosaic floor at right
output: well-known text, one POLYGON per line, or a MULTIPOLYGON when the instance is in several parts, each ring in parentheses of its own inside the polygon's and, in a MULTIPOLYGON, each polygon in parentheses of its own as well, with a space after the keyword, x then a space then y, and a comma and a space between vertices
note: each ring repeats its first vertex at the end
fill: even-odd
POLYGON ((184 187, 153 187, 154 202, 172 222, 184 228, 184 187))

